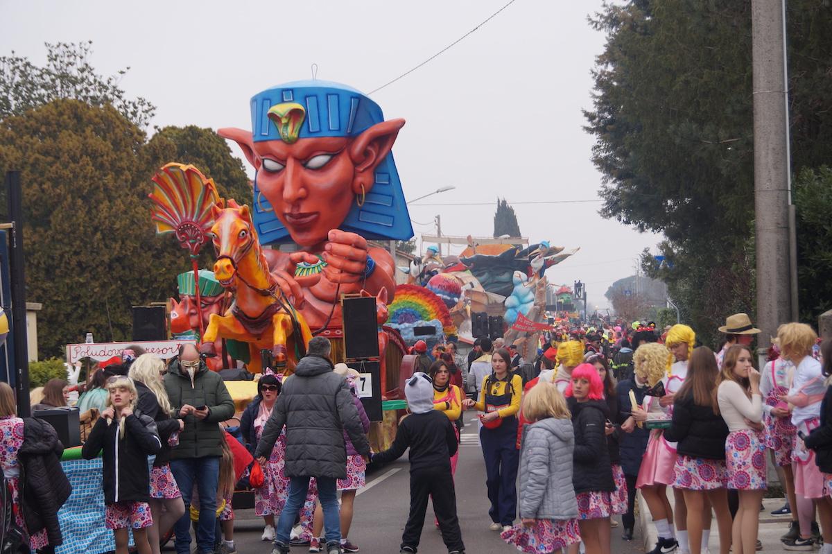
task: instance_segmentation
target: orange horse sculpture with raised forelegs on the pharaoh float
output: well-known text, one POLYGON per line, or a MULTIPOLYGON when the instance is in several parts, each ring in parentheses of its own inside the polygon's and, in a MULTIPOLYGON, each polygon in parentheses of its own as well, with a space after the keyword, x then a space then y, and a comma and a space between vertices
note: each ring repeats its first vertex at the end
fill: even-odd
POLYGON ((292 362, 290 353, 305 354, 312 333, 269 272, 249 206, 228 200, 227 206, 220 202, 211 211, 210 236, 217 252, 214 275, 236 294, 225 315, 211 314, 200 351, 215 355, 216 339, 235 339, 249 344, 251 373, 260 373, 263 349, 270 350, 278 367, 292 362))

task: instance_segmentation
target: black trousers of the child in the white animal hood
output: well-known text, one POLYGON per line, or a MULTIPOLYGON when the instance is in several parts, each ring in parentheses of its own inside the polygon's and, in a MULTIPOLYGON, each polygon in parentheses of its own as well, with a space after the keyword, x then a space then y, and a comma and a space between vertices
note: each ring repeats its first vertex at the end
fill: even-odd
POLYGON ((439 522, 442 540, 448 552, 465 550, 463 535, 457 518, 457 495, 453 490, 450 471, 418 471, 410 473, 410 515, 404 526, 402 547, 416 550, 424 527, 424 513, 428 509, 428 497, 433 497, 433 513, 439 522))

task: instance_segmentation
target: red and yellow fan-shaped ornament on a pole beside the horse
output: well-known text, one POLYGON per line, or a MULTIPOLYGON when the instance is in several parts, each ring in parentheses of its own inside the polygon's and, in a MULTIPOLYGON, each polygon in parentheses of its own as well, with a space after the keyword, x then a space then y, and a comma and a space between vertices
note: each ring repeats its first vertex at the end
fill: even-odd
POLYGON ((153 202, 151 220, 156 233, 175 233, 179 245, 191 253, 191 264, 196 284, 196 309, 200 313, 202 329, 202 301, 200 299, 199 265, 196 260, 202 245, 208 242, 208 231, 214 225, 211 207, 220 201, 214 180, 202 175, 191 165, 171 162, 161 168, 152 179, 153 191, 148 197, 153 202))

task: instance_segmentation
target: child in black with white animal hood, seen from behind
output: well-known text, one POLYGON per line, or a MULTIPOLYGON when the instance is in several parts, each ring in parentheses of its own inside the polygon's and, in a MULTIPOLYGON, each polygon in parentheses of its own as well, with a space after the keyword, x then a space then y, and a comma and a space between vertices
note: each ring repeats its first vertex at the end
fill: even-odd
POLYGON ((456 453, 453 423, 433 409, 433 382, 418 372, 404 387, 410 415, 399 423, 393 445, 373 456, 374 462, 393 462, 410 448, 410 514, 404 526, 400 552, 416 552, 424 525, 428 497, 449 554, 465 552, 457 519, 457 498, 453 489, 450 458, 456 453))

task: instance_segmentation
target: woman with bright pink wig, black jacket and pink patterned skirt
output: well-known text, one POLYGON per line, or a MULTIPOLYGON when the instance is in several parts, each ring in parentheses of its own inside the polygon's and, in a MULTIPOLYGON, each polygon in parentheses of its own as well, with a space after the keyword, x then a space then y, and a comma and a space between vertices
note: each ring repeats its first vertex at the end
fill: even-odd
MULTIPOLYGON (((577 497, 578 526, 587 554, 608 554, 609 539, 602 540, 602 537, 609 537, 612 493, 616 486, 607 450, 609 408, 595 366, 581 364, 572 370, 566 396, 575 429, 572 485, 577 497)), ((569 552, 577 552, 577 545, 571 545, 569 552)))

